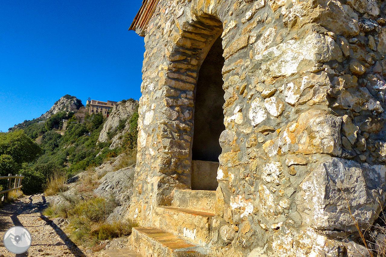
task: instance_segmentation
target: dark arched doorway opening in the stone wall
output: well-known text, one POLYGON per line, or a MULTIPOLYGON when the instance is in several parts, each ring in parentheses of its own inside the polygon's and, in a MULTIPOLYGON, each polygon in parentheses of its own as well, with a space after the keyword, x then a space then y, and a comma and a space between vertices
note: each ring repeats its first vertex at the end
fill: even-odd
POLYGON ((223 104, 222 39, 213 43, 200 67, 195 88, 192 146, 192 190, 216 190, 220 134, 225 129, 223 104))

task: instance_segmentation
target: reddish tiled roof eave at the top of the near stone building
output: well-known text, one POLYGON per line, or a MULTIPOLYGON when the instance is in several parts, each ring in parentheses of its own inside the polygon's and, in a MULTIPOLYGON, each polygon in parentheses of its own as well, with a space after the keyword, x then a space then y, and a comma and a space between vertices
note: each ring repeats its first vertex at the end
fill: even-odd
POLYGON ((135 15, 129 30, 134 30, 140 36, 144 37, 146 26, 156 10, 158 2, 159 0, 143 0, 141 9, 139 9, 137 15, 135 15))

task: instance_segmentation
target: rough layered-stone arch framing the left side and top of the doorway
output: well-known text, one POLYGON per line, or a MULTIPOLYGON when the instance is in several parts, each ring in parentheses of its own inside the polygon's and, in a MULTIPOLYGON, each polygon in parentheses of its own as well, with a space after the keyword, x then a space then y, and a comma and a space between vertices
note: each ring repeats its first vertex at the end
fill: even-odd
MULTIPOLYGON (((160 83, 163 84, 164 88, 164 113, 169 117, 169 123, 178 127, 179 131, 177 133, 173 132, 173 128, 172 126, 169 127, 169 124, 164 129, 165 137, 168 140, 164 140, 162 144, 164 148, 171 150, 164 152, 168 155, 166 158, 169 158, 169 165, 160 171, 164 175, 172 177, 178 174, 177 183, 179 185, 177 187, 192 188, 191 160, 194 142, 196 89, 198 82, 200 82, 199 73, 213 45, 216 47, 220 45, 220 54, 222 54, 221 34, 223 32, 223 25, 215 16, 206 14, 201 14, 200 16, 193 17, 190 21, 176 25, 180 30, 178 34, 171 35, 174 45, 168 52, 169 64, 160 83), (173 134, 173 138, 170 137, 171 134, 173 134), (178 136, 174 136, 175 134, 178 134, 178 136), (176 148, 179 150, 176 151, 176 148)), ((221 81, 222 66, 217 70, 220 72, 221 81)), ((203 72, 201 71, 201 73, 203 72)), ((219 85, 220 90, 222 90, 222 84, 219 85)), ((221 101, 223 101, 223 93, 221 101)), ((220 106, 220 114, 223 116, 222 103, 220 106)), ((216 140, 218 141, 218 138, 216 140)), ((220 148, 219 143, 218 147, 220 148)), ((215 174, 217 174, 217 168, 215 168, 215 174)), ((214 180, 213 183, 216 183, 216 185, 210 189, 215 190, 217 180, 216 176, 213 177, 213 174, 212 180, 214 180)), ((168 183, 170 183, 169 180, 168 183)), ((166 195, 165 191, 161 195, 164 197, 166 195)))

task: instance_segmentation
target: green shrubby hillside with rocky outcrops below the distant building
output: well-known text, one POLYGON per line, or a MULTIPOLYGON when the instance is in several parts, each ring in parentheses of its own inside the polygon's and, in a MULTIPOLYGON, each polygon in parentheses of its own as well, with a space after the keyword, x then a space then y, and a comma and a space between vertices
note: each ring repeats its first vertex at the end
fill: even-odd
POLYGON ((80 99, 63 96, 39 118, 0 133, 0 176, 23 174, 23 192, 29 195, 43 191, 47 181, 58 174, 71 177, 131 151, 137 141, 137 108, 138 101, 121 101, 106 119, 102 114, 89 116, 80 99), (105 136, 98 140, 102 130, 105 136), (34 154, 12 161, 14 157, 1 148, 14 149, 19 141, 9 138, 24 140, 34 154))

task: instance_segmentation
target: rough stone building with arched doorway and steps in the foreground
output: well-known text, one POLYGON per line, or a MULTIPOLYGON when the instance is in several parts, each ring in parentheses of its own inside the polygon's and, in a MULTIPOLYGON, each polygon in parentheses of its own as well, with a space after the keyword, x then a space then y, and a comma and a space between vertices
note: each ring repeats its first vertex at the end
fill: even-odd
POLYGON ((368 256, 355 233, 385 203, 384 10, 144 0, 127 215, 143 257, 368 256))

